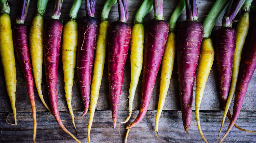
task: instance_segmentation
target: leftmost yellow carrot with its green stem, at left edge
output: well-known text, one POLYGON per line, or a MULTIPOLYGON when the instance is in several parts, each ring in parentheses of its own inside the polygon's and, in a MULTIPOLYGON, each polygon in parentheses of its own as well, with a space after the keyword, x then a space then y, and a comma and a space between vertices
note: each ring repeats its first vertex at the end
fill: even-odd
POLYGON ((17 83, 16 67, 12 41, 11 20, 8 15, 10 13, 10 7, 7 0, 0 1, 0 10, 0 56, 4 68, 6 89, 11 101, 11 108, 14 115, 14 124, 12 125, 17 125, 15 107, 15 92, 17 83))

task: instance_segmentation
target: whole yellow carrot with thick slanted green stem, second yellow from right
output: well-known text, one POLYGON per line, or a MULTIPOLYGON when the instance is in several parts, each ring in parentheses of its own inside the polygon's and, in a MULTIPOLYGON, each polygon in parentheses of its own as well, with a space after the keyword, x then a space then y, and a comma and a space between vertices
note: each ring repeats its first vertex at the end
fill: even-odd
POLYGON ((228 0, 217 0, 203 22, 203 41, 200 50, 200 58, 198 61, 197 77, 196 77, 196 98, 195 98, 195 114, 198 126, 198 131, 203 140, 207 142, 203 135, 200 125, 200 104, 203 99, 203 92, 206 85, 208 75, 214 60, 214 46, 210 37, 213 26, 217 19, 227 7, 228 0))

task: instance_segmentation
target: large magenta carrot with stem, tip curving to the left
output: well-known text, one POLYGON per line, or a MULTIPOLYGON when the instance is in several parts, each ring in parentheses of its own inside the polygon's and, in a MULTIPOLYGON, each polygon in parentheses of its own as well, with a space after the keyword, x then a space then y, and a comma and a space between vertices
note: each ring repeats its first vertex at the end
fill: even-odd
POLYGON ((153 7, 154 18, 145 29, 140 110, 136 119, 126 129, 138 124, 147 112, 169 32, 169 24, 163 21, 163 0, 153 0, 153 7))

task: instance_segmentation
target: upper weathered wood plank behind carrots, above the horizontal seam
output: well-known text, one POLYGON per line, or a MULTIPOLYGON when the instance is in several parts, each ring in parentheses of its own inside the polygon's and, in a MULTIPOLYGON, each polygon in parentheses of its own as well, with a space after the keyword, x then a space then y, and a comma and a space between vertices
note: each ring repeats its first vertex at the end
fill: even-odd
MULTIPOLYGON (((101 9, 103 7, 105 0, 98 0, 97 6, 96 6, 96 12, 95 17, 100 20, 100 13, 101 9)), ((15 22, 15 15, 17 13, 17 7, 19 6, 19 1, 16 0, 9 0, 11 3, 11 22, 14 24, 15 22)), ((198 10, 199 10, 199 21, 203 23, 204 18, 206 17, 208 11, 214 4, 214 0, 198 0, 198 10)), ((68 20, 68 13, 72 6, 73 1, 72 0, 64 0, 63 7, 62 7, 62 14, 60 19, 63 20, 65 23, 68 20)), ((135 1, 135 0, 128 0, 128 8, 129 8, 129 20, 128 22, 130 24, 133 24, 134 16, 137 12, 137 9, 139 8, 142 1, 135 1)), ((165 20, 169 20, 174 8, 176 7, 178 1, 171 0, 171 1, 164 1, 164 16, 165 20)), ((255 2, 254 2, 255 3, 255 2)), ((50 18, 51 16, 51 8, 53 5, 53 0, 50 0, 45 19, 50 18)), ((31 0, 30 8, 28 12, 27 19, 25 21, 25 24, 30 26, 34 13, 36 11, 36 1, 31 0)), ((85 15, 85 2, 83 2, 79 12, 78 17, 82 17, 85 15)), ((115 21, 118 17, 117 13, 117 5, 114 5, 110 12, 109 21, 115 21)), ((153 11, 151 11, 146 17, 145 21, 150 20, 153 17, 153 11)), ((252 18, 252 16, 251 16, 252 18)), ((253 19, 253 18, 252 18, 253 19)), ((181 21, 185 20, 185 12, 182 13, 181 17, 178 20, 177 26, 179 26, 179 23, 181 21)), ((221 25, 221 18, 217 21, 216 26, 221 25)), ((214 28, 214 31, 218 27, 214 28)), ((213 32, 214 36, 214 32, 213 32)), ((246 43, 247 44, 247 43, 246 43)), ((130 53, 129 53, 130 54, 130 53)), ((61 57, 61 55, 60 55, 61 57)), ((129 85, 130 85, 130 55, 128 55, 127 63, 124 69, 124 82, 123 82, 123 89, 121 94, 121 101, 120 101, 120 110, 128 110, 128 95, 129 95, 129 85)), ((61 61, 61 58, 60 58, 61 61)), ((57 91, 58 91, 58 104, 59 104, 59 110, 60 111, 68 111, 67 105, 66 105, 66 99, 65 99, 65 92, 64 92, 64 82, 63 82, 63 70, 62 70, 62 64, 59 62, 59 72, 58 72, 58 85, 57 85, 57 91)), ((23 76, 23 73, 21 71, 21 67, 16 60, 16 68, 17 68, 17 91, 16 91, 16 108, 17 112, 29 112, 31 111, 31 107, 29 106, 29 100, 28 95, 26 91, 25 86, 25 78, 23 76)), ((142 77, 142 76, 141 76, 142 77)), ((140 98, 141 98, 141 79, 139 80, 139 85, 136 90, 136 95, 134 99, 134 105, 133 109, 138 110, 140 105, 140 98)), ((45 74, 43 70, 43 79, 42 79, 42 89, 43 94, 46 103, 49 105, 48 96, 47 96, 47 89, 46 89, 46 80, 45 80, 45 74)), ((252 77, 252 80, 249 84, 247 94, 244 100, 244 105, 242 107, 242 110, 251 110, 256 111, 256 103, 252 102, 253 99, 255 99, 256 94, 256 75, 254 74, 252 77)), ((6 91, 6 85, 4 82, 4 74, 3 74, 3 67, 2 64, 0 64, 0 112, 9 112, 11 111, 11 105, 10 101, 7 95, 6 91)), ((156 110, 157 104, 158 104, 158 98, 159 98, 159 88, 160 88, 160 72, 157 76, 155 88, 153 90, 152 100, 149 105, 149 110, 156 110)), ((37 91, 34 86, 34 92, 35 92, 35 102, 36 102, 36 108, 37 111, 47 111, 46 108, 41 103, 39 97, 37 96, 37 91)), ((195 98, 195 86, 194 86, 194 92, 193 96, 195 98)), ((98 104, 96 106, 96 110, 110 110, 110 103, 109 103, 109 95, 108 95, 108 79, 107 79, 107 64, 105 64, 104 72, 103 72, 103 78, 101 82, 101 88, 100 88, 100 94, 99 94, 98 104)), ((221 104, 219 101, 219 89, 218 89, 218 83, 217 83, 217 73, 216 73, 216 64, 213 64, 212 72, 210 72, 208 81, 206 83, 205 91, 204 91, 204 97, 201 105, 201 110, 222 110, 221 104)), ((178 80, 177 80, 177 62, 175 62, 174 70, 170 82, 170 87, 168 90, 168 94, 166 97, 164 110, 179 110, 180 104, 179 104, 179 95, 178 95, 178 80)), ((83 110, 81 98, 80 98, 80 91, 78 88, 77 83, 77 73, 75 73, 74 78, 74 86, 73 86, 73 97, 72 97, 72 106, 74 111, 80 111, 83 110)), ((232 105, 231 105, 232 106, 232 105)))

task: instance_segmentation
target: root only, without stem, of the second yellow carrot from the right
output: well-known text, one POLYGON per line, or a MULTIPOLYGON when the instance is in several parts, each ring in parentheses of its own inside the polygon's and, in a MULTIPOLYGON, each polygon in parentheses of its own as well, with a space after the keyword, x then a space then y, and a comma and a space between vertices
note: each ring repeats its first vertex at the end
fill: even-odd
POLYGON ((207 78, 211 71, 211 67, 214 60, 214 46, 213 41, 210 37, 203 38, 201 49, 200 49, 200 58, 198 61, 197 77, 196 77, 196 98, 195 98, 195 114, 196 121, 200 135, 203 140, 207 142, 203 135, 203 131, 200 125, 200 104, 203 98, 203 91, 206 85, 207 78))

